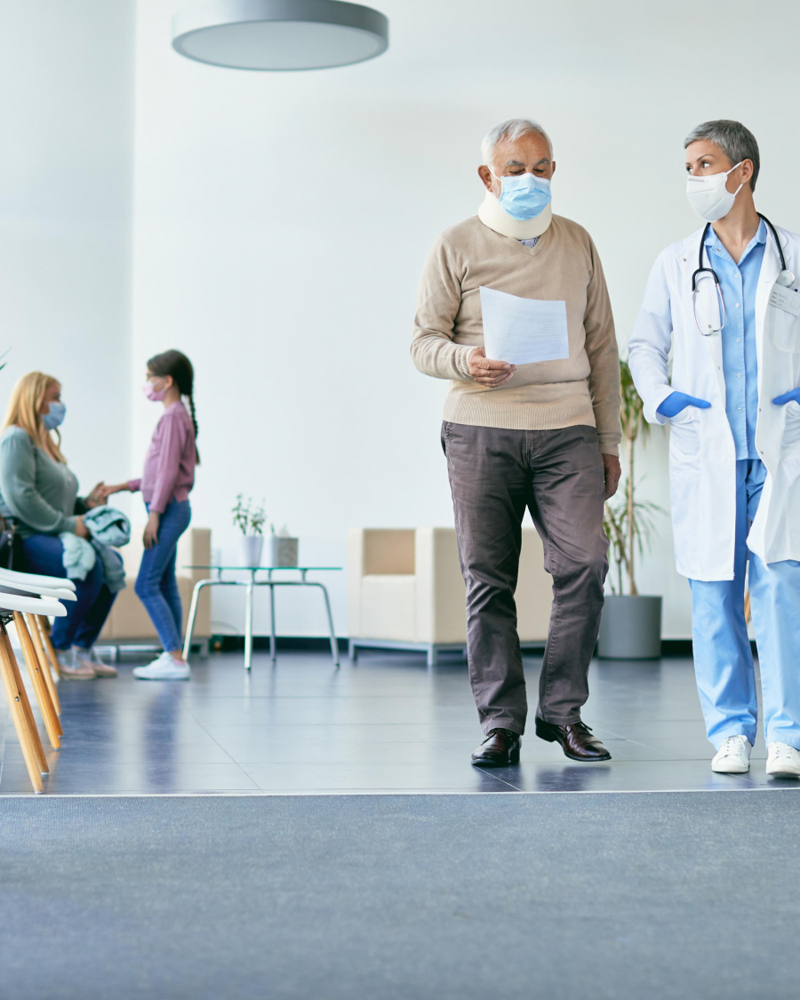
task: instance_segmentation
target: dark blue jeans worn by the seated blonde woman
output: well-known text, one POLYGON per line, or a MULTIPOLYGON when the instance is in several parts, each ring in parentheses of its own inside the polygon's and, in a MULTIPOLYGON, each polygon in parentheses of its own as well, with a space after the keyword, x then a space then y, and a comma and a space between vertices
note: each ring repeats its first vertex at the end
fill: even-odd
MULTIPOLYGON (((22 569, 44 576, 66 576, 64 546, 57 535, 31 535, 22 540, 22 569)), ((105 625, 114 603, 105 583, 103 564, 97 559, 85 580, 75 580, 76 601, 65 601, 65 618, 56 618, 53 645, 56 649, 80 646, 90 649, 105 625)))

